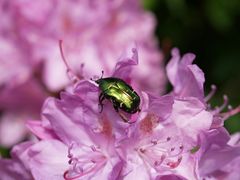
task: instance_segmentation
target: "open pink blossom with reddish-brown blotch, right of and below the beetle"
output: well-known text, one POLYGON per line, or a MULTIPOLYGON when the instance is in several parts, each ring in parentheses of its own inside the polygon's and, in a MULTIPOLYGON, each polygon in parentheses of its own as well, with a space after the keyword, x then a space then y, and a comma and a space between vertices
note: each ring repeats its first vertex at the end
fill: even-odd
POLYGON ((124 177, 132 179, 141 174, 141 179, 159 175, 197 179, 199 152, 205 143, 200 142, 199 135, 212 122, 211 113, 201 101, 149 96, 149 106, 141 113, 145 116, 130 127, 130 135, 122 145, 128 162, 124 177))

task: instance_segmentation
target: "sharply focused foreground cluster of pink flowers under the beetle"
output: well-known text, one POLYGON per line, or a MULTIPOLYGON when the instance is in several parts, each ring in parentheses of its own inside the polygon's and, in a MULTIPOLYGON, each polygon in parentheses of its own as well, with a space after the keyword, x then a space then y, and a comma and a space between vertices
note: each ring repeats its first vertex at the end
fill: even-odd
MULTIPOLYGON (((240 112, 211 108, 195 55, 172 50, 166 67, 173 91, 160 96, 135 82, 138 50, 131 49, 110 76, 130 83, 141 98, 141 112, 122 120, 110 101, 98 108, 100 89, 79 80, 60 99, 48 98, 41 121, 28 121, 37 140, 15 146, 0 161, 3 179, 239 179, 240 136, 223 122, 240 112)), ((74 73, 73 73, 74 74, 74 73)), ((154 74, 152 75, 154 77, 154 74)))

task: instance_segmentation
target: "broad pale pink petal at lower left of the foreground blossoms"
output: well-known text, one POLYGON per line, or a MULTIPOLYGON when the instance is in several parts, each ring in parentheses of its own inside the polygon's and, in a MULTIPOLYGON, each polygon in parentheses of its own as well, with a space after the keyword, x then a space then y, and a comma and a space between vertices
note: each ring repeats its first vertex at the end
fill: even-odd
POLYGON ((25 149, 21 160, 35 179, 63 179, 68 168, 67 147, 57 140, 43 140, 25 149))

